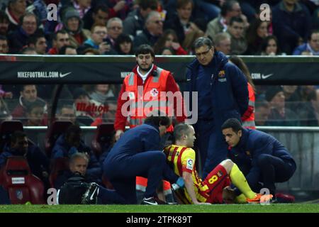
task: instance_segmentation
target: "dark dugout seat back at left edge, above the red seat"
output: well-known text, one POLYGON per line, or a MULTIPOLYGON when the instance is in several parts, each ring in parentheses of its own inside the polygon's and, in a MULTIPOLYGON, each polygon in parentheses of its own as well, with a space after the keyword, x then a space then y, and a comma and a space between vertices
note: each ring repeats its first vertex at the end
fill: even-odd
POLYGON ((11 143, 11 135, 15 131, 23 131, 23 124, 21 121, 2 121, 0 124, 0 153, 4 145, 11 143))

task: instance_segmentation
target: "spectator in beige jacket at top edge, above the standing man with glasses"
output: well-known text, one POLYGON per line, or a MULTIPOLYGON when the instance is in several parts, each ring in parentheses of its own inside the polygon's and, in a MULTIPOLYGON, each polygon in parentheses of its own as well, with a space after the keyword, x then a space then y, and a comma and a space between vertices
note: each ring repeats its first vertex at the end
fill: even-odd
POLYGON ((213 19, 207 25, 206 35, 215 38, 215 35, 227 31, 230 18, 240 16, 242 13, 238 1, 225 1, 221 7, 220 16, 213 19))

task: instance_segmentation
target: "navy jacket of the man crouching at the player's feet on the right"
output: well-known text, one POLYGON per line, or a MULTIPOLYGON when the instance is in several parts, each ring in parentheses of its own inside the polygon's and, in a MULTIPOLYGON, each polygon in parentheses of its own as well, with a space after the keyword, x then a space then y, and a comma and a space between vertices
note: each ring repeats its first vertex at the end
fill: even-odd
POLYGON ((238 165, 252 188, 257 187, 259 181, 262 182, 257 164, 258 157, 262 154, 290 160, 296 165, 289 151, 272 135, 243 128, 240 142, 229 150, 228 157, 238 165))

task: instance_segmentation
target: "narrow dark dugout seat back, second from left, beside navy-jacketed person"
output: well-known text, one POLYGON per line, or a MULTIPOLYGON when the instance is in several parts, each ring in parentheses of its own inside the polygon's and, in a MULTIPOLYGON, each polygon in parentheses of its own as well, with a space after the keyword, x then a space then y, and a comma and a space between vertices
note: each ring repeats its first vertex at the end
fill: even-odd
POLYGON ((55 145, 57 138, 71 125, 71 121, 54 121, 47 129, 45 135, 45 153, 47 154, 47 157, 51 157, 52 148, 55 145))

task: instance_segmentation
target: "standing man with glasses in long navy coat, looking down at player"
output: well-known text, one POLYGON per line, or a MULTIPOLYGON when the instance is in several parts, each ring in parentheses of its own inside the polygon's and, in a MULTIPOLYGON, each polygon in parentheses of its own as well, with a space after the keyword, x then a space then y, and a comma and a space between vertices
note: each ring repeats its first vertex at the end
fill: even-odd
MULTIPOLYGON (((194 42, 196 59, 186 72, 189 92, 198 92, 197 147, 205 179, 218 163, 225 160, 228 146, 220 127, 228 118, 240 120, 248 108, 247 80, 222 53, 215 51, 209 38, 194 42)), ((191 95, 190 95, 191 97, 191 95)))

